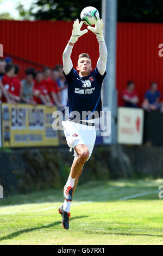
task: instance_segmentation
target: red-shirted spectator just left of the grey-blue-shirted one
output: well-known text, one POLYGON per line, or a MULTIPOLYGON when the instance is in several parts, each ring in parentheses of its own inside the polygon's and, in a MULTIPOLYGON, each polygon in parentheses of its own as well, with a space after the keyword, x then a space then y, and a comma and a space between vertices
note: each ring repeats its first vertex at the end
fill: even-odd
POLYGON ((20 80, 17 77, 19 66, 15 65, 14 75, 11 77, 12 94, 17 96, 17 102, 20 102, 20 80))

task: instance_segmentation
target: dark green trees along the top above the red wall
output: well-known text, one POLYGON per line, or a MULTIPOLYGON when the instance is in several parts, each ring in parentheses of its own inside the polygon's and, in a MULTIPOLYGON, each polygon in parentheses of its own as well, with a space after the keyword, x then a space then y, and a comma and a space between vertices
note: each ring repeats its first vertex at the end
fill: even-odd
MULTIPOLYGON (((107 0, 106 0, 107 1, 107 0)), ((117 0, 117 20, 126 22, 163 22, 161 0, 117 0)), ((28 11, 19 4, 22 19, 75 20, 87 6, 96 7, 101 16, 102 0, 36 0, 28 11)))

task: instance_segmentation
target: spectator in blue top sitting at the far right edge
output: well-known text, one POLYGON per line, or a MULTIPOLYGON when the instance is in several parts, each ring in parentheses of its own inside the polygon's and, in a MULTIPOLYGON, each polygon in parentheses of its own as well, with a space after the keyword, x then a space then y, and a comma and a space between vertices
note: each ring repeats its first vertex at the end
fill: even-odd
POLYGON ((151 89, 145 93, 145 99, 143 100, 142 107, 146 111, 157 111, 163 112, 163 102, 160 102, 161 94, 158 90, 158 84, 151 82, 151 89))

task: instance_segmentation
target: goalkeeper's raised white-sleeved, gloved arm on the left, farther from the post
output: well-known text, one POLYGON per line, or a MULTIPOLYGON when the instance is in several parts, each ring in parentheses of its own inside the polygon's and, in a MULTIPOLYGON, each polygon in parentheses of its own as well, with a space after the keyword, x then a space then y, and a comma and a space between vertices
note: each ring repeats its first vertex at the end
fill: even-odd
POLYGON ((80 23, 78 19, 74 21, 70 41, 68 41, 68 44, 66 45, 66 48, 63 53, 64 72, 66 75, 70 73, 73 67, 72 60, 71 60, 71 53, 72 53, 72 48, 74 43, 77 42, 80 36, 88 32, 87 29, 84 29, 83 31, 80 30, 82 28, 82 25, 83 25, 83 21, 81 21, 80 23))

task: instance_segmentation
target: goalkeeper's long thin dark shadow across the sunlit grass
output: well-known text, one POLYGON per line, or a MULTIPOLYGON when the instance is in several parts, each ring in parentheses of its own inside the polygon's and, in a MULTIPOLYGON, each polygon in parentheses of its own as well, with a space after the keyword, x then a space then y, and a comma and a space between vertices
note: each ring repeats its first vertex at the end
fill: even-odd
MULTIPOLYGON (((71 220, 74 220, 75 218, 79 219, 79 218, 86 218, 86 217, 88 217, 88 216, 71 217, 71 220)), ((48 225, 42 225, 41 227, 37 227, 37 228, 26 228, 26 229, 18 230, 18 231, 14 232, 10 235, 0 237, 0 241, 12 239, 16 236, 19 236, 19 235, 23 234, 23 233, 32 232, 34 230, 40 230, 42 228, 51 228, 51 227, 54 227, 55 225, 58 225, 58 224, 61 224, 61 221, 53 222, 53 223, 48 224, 48 225)))

